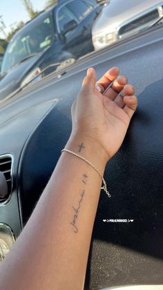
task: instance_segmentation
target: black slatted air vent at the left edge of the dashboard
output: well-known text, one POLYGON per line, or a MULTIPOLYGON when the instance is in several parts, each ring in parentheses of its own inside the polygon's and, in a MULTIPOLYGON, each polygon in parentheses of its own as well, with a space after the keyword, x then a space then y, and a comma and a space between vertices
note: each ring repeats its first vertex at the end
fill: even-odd
POLYGON ((12 171, 12 157, 9 155, 3 155, 0 156, 0 171, 3 172, 7 184, 8 184, 8 194, 6 197, 0 197, 0 203, 3 201, 6 201, 8 197, 10 196, 11 189, 12 189, 12 176, 11 176, 11 171, 12 171))

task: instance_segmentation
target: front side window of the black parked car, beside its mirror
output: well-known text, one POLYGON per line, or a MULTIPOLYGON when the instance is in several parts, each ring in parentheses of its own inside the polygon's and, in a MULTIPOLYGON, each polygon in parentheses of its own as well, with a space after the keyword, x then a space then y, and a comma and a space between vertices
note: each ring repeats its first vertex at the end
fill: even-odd
POLYGON ((71 20, 77 21, 77 18, 72 11, 68 9, 67 6, 62 7, 58 12, 58 24, 61 31, 64 30, 64 27, 71 20))

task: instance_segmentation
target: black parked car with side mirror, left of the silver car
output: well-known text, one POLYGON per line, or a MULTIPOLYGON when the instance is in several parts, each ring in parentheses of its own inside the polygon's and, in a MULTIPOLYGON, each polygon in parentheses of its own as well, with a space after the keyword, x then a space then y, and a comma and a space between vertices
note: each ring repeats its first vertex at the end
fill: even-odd
POLYGON ((66 64, 71 64, 93 51, 91 28, 101 10, 102 6, 93 5, 92 0, 64 0, 23 26, 3 58, 0 100, 47 66, 44 75, 55 71, 58 63, 68 60, 66 64))

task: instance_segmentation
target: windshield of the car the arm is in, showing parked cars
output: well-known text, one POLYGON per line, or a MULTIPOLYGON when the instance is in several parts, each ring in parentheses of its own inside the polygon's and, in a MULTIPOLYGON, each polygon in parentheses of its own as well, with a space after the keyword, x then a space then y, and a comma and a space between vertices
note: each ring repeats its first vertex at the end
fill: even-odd
MULTIPOLYGON (((13 76, 19 71, 17 89, 32 84, 33 79, 39 82, 50 73, 65 73, 68 66, 84 61, 99 50, 113 51, 119 42, 130 42, 145 30, 154 30, 156 24, 160 26, 158 19, 163 15, 162 0, 44 1, 37 10, 29 11, 24 6, 31 21, 23 22, 20 13, 16 18, 23 26, 16 26, 15 30, 6 27, 3 31, 6 39, 0 36, 0 52, 4 53, 0 81, 10 75, 11 69, 13 76), (10 35, 13 35, 11 39, 10 35), (9 41, 3 50, 1 40, 9 41)), ((0 17, 0 30, 1 23, 0 17)))

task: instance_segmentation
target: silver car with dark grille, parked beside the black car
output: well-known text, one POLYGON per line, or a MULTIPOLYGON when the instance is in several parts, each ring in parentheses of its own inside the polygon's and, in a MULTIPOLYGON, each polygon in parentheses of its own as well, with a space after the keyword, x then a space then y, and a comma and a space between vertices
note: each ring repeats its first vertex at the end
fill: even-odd
POLYGON ((163 16, 160 0, 111 0, 93 25, 95 50, 138 33, 163 16))

